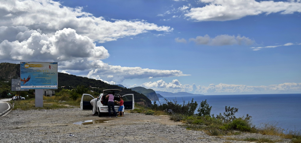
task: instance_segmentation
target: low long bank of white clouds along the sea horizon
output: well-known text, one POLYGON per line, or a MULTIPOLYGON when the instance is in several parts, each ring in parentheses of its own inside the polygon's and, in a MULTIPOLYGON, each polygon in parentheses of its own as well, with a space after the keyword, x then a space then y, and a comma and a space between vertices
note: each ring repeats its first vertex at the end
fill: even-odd
POLYGON ((182 85, 177 79, 172 82, 158 80, 157 82, 145 82, 141 85, 145 88, 151 88, 166 92, 190 92, 194 94, 279 94, 279 93, 300 93, 301 83, 283 83, 279 85, 268 86, 248 86, 248 85, 229 85, 220 83, 218 85, 210 84, 208 86, 182 85))

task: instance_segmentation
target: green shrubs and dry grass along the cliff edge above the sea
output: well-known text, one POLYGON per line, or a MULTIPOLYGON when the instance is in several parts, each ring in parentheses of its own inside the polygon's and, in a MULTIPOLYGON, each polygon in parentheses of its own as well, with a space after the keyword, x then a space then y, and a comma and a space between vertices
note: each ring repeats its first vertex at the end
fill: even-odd
MULTIPOLYGON (((265 126, 256 128, 251 123, 251 116, 248 114, 244 117, 236 117, 235 113, 238 112, 237 108, 225 106, 225 112, 219 115, 210 115, 212 106, 209 106, 207 100, 198 104, 192 99, 190 102, 180 105, 176 100, 165 99, 164 104, 158 105, 155 101, 154 104, 147 108, 145 106, 136 106, 132 113, 144 113, 146 115, 169 115, 171 120, 181 121, 186 123, 184 127, 187 130, 203 130, 211 136, 224 136, 224 135, 238 135, 242 132, 248 133, 261 133, 267 135, 276 135, 282 138, 292 139, 293 143, 301 143, 300 132, 283 133, 284 130, 276 127, 276 125, 265 124, 265 126), (194 111, 197 109, 197 114, 194 111)), ((234 138, 227 138, 228 140, 238 140, 234 138)), ((280 142, 281 140, 271 140, 268 138, 246 138, 241 141, 250 142, 280 142)))

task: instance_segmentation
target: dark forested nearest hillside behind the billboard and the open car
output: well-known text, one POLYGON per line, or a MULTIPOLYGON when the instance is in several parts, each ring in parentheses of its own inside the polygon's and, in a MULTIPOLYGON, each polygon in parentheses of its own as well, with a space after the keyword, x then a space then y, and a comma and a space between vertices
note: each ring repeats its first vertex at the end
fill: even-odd
MULTIPOLYGON (((0 81, 9 81, 11 78, 20 78, 20 64, 11 64, 11 63, 0 63, 0 81)), ((66 89, 72 89, 79 86, 90 87, 90 90, 101 93, 104 89, 120 89, 120 95, 124 94, 134 94, 135 102, 144 104, 145 106, 151 105, 151 100, 146 96, 136 91, 132 91, 129 88, 123 88, 117 85, 110 85, 101 80, 89 79, 87 77, 69 75, 67 73, 58 73, 58 92, 61 87, 66 89)))

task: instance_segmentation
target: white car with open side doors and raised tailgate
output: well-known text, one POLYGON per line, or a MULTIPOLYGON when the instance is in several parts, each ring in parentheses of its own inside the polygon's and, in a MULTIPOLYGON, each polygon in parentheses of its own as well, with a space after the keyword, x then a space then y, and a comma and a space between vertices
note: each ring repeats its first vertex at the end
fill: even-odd
MULTIPOLYGON (((114 101, 120 101, 119 97, 121 97, 119 95, 119 93, 122 90, 119 89, 107 89, 107 90, 103 90, 102 94, 99 94, 99 98, 98 101, 96 102, 96 111, 98 112, 98 116, 101 117, 103 114, 108 113, 108 98, 106 98, 106 96, 108 94, 111 94, 112 92, 114 92, 114 101)), ((123 95, 123 106, 124 106, 124 110, 133 110, 134 109, 134 94, 126 94, 123 95)), ((95 97, 93 97, 90 94, 82 94, 82 100, 80 101, 80 108, 82 110, 92 110, 92 105, 90 103, 90 101, 92 99, 94 99, 95 97)), ((117 103, 115 103, 115 111, 118 113, 118 108, 119 105, 117 103)), ((111 113, 113 113, 113 110, 111 109, 111 113)))

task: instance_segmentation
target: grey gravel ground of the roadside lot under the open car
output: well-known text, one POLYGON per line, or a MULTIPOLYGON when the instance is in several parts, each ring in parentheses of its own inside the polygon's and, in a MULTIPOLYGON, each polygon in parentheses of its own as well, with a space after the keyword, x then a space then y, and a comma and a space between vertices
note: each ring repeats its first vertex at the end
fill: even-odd
POLYGON ((151 116, 125 112, 124 117, 92 116, 92 111, 80 108, 53 110, 13 110, 0 117, 0 142, 130 142, 130 143, 246 143, 229 140, 245 138, 269 138, 277 143, 290 139, 255 133, 233 136, 208 136, 203 131, 186 130, 181 122, 169 120, 169 116, 151 116), (88 120, 109 120, 98 124, 74 124, 88 120), (71 135, 71 136, 70 136, 71 135))

